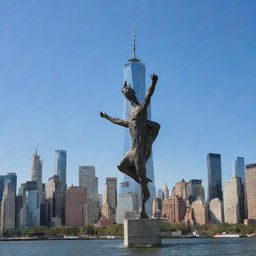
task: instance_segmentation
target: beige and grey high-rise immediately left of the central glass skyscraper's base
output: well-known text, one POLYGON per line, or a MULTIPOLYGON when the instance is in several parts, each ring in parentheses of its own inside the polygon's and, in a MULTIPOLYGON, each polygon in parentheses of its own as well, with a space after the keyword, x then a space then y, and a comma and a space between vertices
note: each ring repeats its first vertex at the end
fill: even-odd
POLYGON ((102 205, 102 215, 116 221, 117 207, 117 178, 107 177, 105 184, 104 199, 102 205))

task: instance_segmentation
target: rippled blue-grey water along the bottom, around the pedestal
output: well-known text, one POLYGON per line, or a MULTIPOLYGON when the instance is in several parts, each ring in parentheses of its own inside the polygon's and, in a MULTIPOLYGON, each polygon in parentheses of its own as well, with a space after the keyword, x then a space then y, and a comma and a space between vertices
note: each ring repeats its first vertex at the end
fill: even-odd
POLYGON ((0 256, 255 256, 255 238, 163 239, 158 248, 124 248, 123 240, 0 242, 0 256))

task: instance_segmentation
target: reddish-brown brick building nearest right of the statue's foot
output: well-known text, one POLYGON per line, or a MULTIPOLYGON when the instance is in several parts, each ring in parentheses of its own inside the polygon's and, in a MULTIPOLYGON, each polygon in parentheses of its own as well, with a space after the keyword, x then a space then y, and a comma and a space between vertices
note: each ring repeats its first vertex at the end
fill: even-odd
POLYGON ((180 223, 184 220, 186 203, 180 196, 171 196, 163 201, 162 216, 171 223, 180 223))

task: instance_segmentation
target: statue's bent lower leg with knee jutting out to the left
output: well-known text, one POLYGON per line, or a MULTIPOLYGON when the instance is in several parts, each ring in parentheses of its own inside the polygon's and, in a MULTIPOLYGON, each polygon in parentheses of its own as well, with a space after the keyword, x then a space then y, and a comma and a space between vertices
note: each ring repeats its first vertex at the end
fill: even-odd
POLYGON ((126 153, 123 159, 121 160, 120 165, 118 165, 117 168, 122 173, 128 175, 129 177, 134 179, 136 182, 140 183, 139 177, 137 176, 135 164, 134 164, 133 153, 131 152, 126 153))

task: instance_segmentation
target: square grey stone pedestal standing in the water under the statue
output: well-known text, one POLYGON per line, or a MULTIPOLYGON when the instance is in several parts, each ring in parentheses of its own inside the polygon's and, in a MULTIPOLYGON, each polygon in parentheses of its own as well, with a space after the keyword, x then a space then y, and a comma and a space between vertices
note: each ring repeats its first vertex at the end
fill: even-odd
POLYGON ((160 220, 124 220, 124 245, 126 247, 150 247, 161 245, 160 220))

